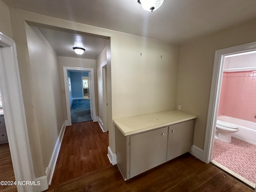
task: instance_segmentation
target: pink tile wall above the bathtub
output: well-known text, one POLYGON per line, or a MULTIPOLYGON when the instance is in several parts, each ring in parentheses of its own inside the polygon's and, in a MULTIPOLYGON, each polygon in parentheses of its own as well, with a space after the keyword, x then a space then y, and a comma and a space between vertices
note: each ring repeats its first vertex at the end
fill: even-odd
POLYGON ((219 115, 256 122, 256 71, 223 72, 219 115))

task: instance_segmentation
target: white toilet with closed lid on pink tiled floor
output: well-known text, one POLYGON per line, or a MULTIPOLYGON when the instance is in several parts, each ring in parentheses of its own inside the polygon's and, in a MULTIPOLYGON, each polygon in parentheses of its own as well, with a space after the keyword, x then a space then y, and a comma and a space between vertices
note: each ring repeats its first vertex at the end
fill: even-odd
POLYGON ((216 122, 216 139, 222 142, 231 143, 231 134, 238 131, 238 127, 234 124, 219 119, 216 122))

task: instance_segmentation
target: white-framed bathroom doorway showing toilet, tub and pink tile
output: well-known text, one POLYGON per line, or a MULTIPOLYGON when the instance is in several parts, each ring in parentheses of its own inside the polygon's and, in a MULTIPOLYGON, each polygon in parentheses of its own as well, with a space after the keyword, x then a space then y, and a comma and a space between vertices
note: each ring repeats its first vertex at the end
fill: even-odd
POLYGON ((215 54, 218 69, 215 68, 216 87, 213 90, 212 83, 210 98, 210 104, 214 103, 207 122, 210 127, 208 160, 255 188, 256 47, 252 49, 250 44, 246 50, 244 46, 245 50, 239 50, 238 46, 215 54))

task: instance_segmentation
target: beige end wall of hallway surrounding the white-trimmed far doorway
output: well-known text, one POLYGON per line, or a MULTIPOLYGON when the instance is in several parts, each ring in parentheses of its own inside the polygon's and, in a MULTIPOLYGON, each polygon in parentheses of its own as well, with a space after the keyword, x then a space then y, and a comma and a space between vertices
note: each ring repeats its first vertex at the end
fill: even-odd
MULTIPOLYGON (((98 115, 98 93, 97 93, 97 73, 96 73, 96 62, 93 59, 82 59, 82 58, 72 58, 72 57, 61 57, 59 56, 59 70, 60 70, 60 84, 61 90, 65 90, 64 86, 64 76, 63 67, 84 67, 93 68, 94 70, 94 92, 95 92, 95 106, 96 106, 96 116, 98 115)), ((64 118, 67 120, 67 108, 66 108, 66 96, 62 94, 62 105, 64 118)))

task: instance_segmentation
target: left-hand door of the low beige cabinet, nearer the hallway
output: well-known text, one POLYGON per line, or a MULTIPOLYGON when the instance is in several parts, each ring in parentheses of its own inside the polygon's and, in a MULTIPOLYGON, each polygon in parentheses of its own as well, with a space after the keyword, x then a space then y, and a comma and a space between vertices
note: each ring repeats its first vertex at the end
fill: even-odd
POLYGON ((168 128, 130 136, 130 178, 166 162, 168 128))

